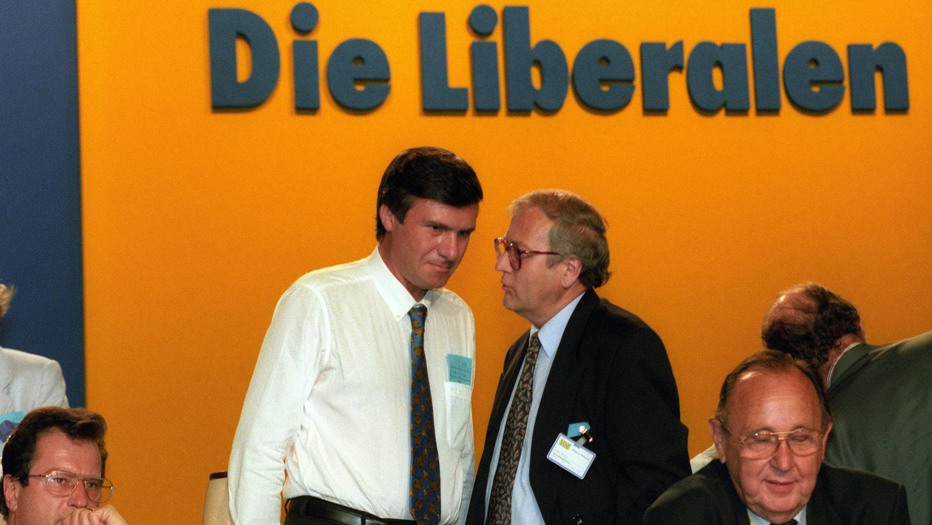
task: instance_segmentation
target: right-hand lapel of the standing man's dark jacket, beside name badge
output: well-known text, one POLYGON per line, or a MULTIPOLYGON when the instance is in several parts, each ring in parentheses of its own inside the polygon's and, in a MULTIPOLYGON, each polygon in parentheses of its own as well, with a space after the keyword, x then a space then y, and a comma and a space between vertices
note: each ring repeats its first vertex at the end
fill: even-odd
POLYGON ((576 406, 576 393, 584 373, 578 366, 582 351, 580 341, 583 339, 589 316, 596 306, 598 296, 596 292, 588 290, 569 316, 569 322, 554 356, 554 364, 550 367, 550 374, 544 385, 537 420, 534 422, 530 451, 530 485, 534 490, 534 499, 541 508, 541 516, 547 522, 551 520, 560 477, 565 473, 562 468, 547 460, 547 453, 554 444, 556 435, 566 433, 569 423, 575 422, 569 420, 576 406))

